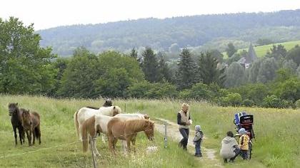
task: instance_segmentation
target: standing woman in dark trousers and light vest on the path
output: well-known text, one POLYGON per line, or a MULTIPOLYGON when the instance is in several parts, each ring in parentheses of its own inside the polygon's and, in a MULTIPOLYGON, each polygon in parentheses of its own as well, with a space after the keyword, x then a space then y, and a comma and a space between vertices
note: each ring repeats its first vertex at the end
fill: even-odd
POLYGON ((179 125, 179 132, 183 137, 179 142, 179 145, 187 150, 186 145, 189 141, 189 125, 191 125, 191 116, 189 114, 189 105, 186 103, 181 105, 181 110, 177 113, 177 124, 179 125))

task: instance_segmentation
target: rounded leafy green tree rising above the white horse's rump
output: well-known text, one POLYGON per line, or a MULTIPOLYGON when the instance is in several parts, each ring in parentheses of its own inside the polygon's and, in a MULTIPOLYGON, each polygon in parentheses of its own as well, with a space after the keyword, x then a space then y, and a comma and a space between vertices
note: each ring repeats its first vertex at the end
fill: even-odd
POLYGON ((99 78, 99 59, 86 48, 76 48, 61 78, 57 95, 72 98, 99 98, 95 81, 99 78))

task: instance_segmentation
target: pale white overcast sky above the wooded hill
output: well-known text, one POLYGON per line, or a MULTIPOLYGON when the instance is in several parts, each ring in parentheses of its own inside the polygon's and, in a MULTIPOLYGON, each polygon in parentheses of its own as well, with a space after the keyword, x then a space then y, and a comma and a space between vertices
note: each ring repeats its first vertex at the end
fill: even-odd
POLYGON ((19 18, 35 30, 141 18, 300 9, 300 0, 5 0, 0 18, 19 18))

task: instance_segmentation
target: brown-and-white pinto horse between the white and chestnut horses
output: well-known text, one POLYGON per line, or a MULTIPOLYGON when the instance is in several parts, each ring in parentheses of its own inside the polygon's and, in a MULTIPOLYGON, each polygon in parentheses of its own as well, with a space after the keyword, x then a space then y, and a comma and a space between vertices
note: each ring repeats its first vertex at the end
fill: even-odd
MULTIPOLYGON (((134 114, 118 114, 114 117, 117 117, 123 121, 126 120, 134 120, 134 119, 146 119, 149 120, 149 115, 146 114, 140 114, 140 113, 134 113, 134 114)), ((93 117, 90 117, 88 120, 86 120, 82 125, 82 143, 84 147, 84 152, 87 151, 88 147, 88 134, 91 135, 91 145, 93 146, 94 154, 97 156, 100 156, 98 149, 96 148, 96 137, 97 133, 104 133, 107 135, 107 125, 111 119, 114 117, 109 117, 105 115, 94 115, 93 117)), ((124 152, 126 152, 127 144, 126 141, 122 140, 122 145, 124 152)))

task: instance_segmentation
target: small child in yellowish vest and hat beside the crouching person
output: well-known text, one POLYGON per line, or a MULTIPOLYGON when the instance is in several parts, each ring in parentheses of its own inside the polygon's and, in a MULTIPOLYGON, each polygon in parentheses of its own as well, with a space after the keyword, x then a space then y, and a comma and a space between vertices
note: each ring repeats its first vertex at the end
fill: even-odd
POLYGON ((239 129, 239 147, 241 149, 241 157, 243 159, 248 159, 248 150, 249 150, 249 140, 250 137, 247 135, 247 132, 244 128, 239 129))

